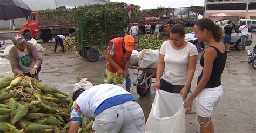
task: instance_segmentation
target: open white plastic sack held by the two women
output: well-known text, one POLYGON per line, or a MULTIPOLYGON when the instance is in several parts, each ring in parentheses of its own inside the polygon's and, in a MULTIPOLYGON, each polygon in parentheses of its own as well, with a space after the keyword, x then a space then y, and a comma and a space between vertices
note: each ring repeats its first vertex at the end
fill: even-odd
POLYGON ((145 131, 146 133, 186 131, 185 109, 179 94, 156 91, 145 131))

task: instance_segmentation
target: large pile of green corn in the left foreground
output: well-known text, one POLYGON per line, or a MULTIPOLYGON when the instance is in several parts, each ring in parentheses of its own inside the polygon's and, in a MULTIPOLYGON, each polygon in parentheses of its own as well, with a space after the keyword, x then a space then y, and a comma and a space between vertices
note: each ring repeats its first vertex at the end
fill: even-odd
MULTIPOLYGON (((72 103, 36 79, 7 77, 0 82, 0 132, 67 132, 72 103)), ((92 132, 92 123, 84 117, 79 132, 92 132)))

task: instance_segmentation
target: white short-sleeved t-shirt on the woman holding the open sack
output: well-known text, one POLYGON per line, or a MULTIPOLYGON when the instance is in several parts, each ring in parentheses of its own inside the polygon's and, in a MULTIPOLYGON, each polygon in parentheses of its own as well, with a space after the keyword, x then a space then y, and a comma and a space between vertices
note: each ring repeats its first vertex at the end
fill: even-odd
POLYGON ((164 74, 166 82, 173 85, 185 85, 187 79, 188 57, 198 55, 197 47, 188 42, 180 50, 174 49, 169 41, 165 41, 160 48, 160 54, 164 55, 164 74))

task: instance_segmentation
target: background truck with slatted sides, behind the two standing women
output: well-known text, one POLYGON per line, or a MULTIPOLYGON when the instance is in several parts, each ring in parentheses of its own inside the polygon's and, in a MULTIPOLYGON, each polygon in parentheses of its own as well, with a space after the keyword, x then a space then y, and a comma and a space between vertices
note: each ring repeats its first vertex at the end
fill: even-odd
POLYGON ((172 19, 176 22, 182 21, 186 27, 193 27, 198 20, 198 15, 203 14, 204 7, 191 6, 184 8, 157 8, 144 9, 137 12, 137 19, 131 21, 137 22, 139 33, 145 34, 145 25, 149 21, 154 31, 154 26, 163 23, 167 19, 172 19))

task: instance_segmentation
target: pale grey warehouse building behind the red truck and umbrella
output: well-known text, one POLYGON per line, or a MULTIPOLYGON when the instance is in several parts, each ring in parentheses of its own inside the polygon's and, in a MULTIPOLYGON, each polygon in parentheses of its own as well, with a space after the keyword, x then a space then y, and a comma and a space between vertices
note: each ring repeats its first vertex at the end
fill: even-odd
MULTIPOLYGON (((82 6, 85 4, 104 4, 106 0, 22 0, 32 11, 56 9, 60 6, 82 6)), ((16 29, 21 29, 26 18, 14 19, 16 29)), ((12 28, 12 20, 1 21, 0 28, 12 28)))

